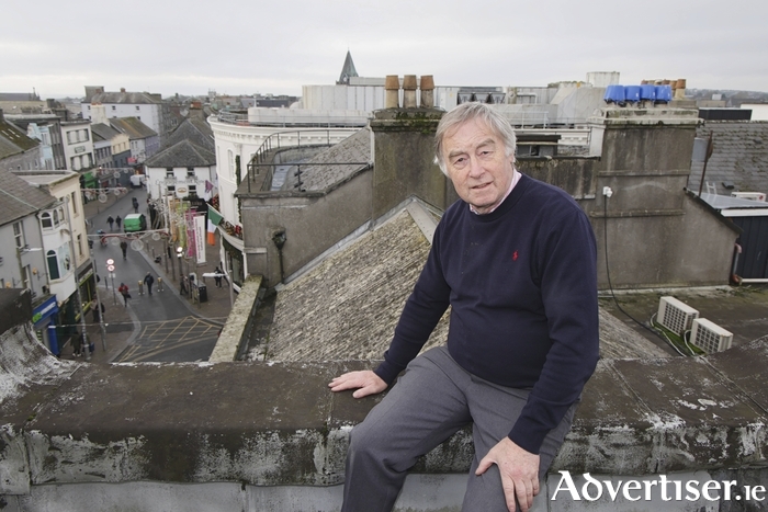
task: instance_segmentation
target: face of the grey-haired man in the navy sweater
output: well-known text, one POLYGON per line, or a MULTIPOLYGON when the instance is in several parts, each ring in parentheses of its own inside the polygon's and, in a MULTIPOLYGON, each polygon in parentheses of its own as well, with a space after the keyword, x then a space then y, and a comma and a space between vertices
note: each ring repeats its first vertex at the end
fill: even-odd
POLYGON ((515 156, 485 123, 471 120, 443 136, 443 161, 459 197, 479 214, 489 212, 509 190, 515 156))

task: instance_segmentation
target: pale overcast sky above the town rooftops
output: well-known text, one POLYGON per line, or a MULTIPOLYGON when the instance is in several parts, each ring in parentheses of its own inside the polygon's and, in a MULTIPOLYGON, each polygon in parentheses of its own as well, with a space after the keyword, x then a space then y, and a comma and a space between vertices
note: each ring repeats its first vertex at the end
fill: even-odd
POLYGON ((361 77, 437 86, 621 83, 768 92, 765 0, 0 0, 0 92, 301 95, 347 50, 361 77))

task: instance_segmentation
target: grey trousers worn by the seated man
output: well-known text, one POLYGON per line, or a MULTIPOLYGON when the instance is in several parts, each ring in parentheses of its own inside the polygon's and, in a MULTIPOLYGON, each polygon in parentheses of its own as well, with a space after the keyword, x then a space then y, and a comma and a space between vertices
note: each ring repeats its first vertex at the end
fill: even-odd
MULTIPOLYGON (((417 457, 471 422, 475 456, 462 511, 506 511, 497 466, 493 465, 481 476, 475 476, 475 469, 509 433, 528 394, 467 373, 453 361, 445 346, 419 355, 381 403, 350 433, 342 512, 391 511, 417 457)), ((540 480, 571 429, 574 409, 575 406, 544 440, 540 480)))

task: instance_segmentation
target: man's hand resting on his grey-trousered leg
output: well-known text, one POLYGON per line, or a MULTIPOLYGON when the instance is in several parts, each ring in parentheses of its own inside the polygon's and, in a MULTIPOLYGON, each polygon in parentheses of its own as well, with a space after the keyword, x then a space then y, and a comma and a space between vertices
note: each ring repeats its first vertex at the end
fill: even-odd
POLYGON ((492 464, 496 464, 501 474, 501 488, 509 512, 515 512, 516 496, 520 510, 528 512, 533 504, 533 497, 539 493, 539 455, 533 455, 509 437, 504 437, 483 457, 475 475, 483 475, 492 464))

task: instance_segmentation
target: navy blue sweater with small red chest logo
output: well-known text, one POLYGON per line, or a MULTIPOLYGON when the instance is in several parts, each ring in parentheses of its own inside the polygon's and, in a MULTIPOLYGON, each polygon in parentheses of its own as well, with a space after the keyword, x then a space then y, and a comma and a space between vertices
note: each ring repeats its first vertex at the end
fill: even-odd
POLYGON ((522 175, 490 214, 463 201, 434 232, 427 263, 376 374, 392 384, 448 306, 448 349, 464 369, 531 389, 509 437, 538 454, 598 360, 595 235, 562 190, 522 175))

